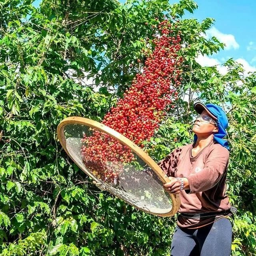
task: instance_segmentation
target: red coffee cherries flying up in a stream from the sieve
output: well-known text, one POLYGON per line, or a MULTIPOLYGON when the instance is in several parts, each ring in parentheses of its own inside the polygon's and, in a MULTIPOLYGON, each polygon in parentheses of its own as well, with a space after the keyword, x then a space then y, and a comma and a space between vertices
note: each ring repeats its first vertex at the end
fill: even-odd
MULTIPOLYGON (((143 141, 150 141, 158 130, 166 115, 164 110, 170 111, 167 106, 175 108, 173 102, 178 99, 177 89, 182 82, 183 58, 178 55, 181 33, 175 35, 168 20, 160 22, 158 30, 160 36, 154 38, 155 48, 146 59, 143 72, 136 74, 132 86, 102 120, 102 124, 141 148, 144 148, 143 141)), ((140 59, 137 62, 140 63, 140 59)), ((98 130, 92 129, 91 136, 84 135, 82 145, 85 166, 105 182, 118 184, 124 164, 136 159, 130 149, 98 130)))

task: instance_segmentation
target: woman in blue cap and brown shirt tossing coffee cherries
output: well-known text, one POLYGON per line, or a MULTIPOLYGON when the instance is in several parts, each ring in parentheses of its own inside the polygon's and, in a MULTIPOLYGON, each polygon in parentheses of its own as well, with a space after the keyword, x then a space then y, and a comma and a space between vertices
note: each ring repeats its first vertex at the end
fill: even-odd
POLYGON ((214 104, 194 104, 194 143, 177 148, 159 165, 169 176, 168 192, 181 206, 171 256, 230 256, 232 224, 226 173, 229 160, 228 119, 214 104))

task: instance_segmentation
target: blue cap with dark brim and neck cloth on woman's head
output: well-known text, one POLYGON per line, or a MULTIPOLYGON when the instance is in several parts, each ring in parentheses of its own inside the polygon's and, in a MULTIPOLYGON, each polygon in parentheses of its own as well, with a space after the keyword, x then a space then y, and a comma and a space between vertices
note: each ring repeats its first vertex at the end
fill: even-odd
MULTIPOLYGON (((214 134, 214 140, 222 145, 224 148, 227 148, 230 150, 228 146, 228 142, 226 140, 223 140, 227 134, 226 128, 228 128, 228 118, 226 116, 226 113, 224 110, 215 104, 202 104, 201 102, 196 102, 194 104, 194 109, 198 114, 201 114, 203 110, 206 110, 206 112, 209 114, 209 116, 212 117, 213 120, 215 120, 218 124, 218 132, 214 134)), ((197 136, 194 135, 194 141, 197 140, 197 136)))

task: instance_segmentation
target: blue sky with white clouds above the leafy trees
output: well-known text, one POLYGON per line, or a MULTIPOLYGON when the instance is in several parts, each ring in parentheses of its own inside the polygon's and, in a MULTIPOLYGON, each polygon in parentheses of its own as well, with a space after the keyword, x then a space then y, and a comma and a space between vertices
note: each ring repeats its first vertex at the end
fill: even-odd
MULTIPOLYGON (((177 2, 178 0, 170 0, 177 2)), ((214 18, 214 26, 207 36, 216 36, 226 44, 224 50, 212 56, 199 56, 203 66, 212 66, 234 58, 244 65, 246 71, 256 71, 256 0, 195 0, 198 9, 185 18, 214 18)), ((38 6, 41 0, 35 0, 38 6)), ((126 0, 120 0, 124 3, 126 0)), ((225 73, 225 70, 220 70, 225 73)))

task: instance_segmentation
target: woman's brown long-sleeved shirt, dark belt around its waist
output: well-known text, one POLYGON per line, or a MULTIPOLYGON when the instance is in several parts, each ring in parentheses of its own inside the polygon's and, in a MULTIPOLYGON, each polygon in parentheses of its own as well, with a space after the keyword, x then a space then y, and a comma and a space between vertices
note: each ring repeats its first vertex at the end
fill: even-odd
MULTIPOLYGON (((193 157, 192 148, 193 144, 177 148, 158 163, 168 176, 188 179, 190 190, 180 192, 181 206, 178 212, 201 213, 230 209, 226 195, 228 150, 212 141, 193 157)), ((198 228, 221 217, 191 219, 179 215, 178 226, 198 228)))

